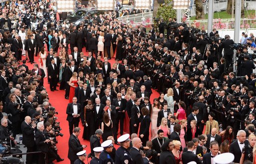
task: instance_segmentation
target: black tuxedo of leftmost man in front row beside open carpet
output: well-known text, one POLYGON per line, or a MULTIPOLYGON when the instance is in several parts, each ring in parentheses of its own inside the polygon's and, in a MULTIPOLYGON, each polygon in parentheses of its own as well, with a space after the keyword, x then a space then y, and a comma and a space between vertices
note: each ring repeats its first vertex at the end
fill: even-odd
MULTIPOLYGON (((72 134, 73 128, 78 127, 79 124, 79 117, 73 117, 74 110, 73 106, 75 106, 73 103, 68 103, 66 107, 66 120, 68 121, 68 126, 69 126, 69 134, 72 134)), ((81 115, 81 105, 80 103, 76 103, 77 106, 77 114, 81 115)))

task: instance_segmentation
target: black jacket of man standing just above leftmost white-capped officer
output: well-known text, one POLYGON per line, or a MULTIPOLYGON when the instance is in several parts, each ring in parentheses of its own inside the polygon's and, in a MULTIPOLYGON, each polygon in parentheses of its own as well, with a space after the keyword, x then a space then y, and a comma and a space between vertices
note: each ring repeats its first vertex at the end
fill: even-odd
POLYGON ((76 160, 78 159, 78 156, 76 155, 77 152, 82 151, 82 145, 76 136, 74 134, 71 134, 68 139, 68 153, 67 157, 70 160, 76 160))

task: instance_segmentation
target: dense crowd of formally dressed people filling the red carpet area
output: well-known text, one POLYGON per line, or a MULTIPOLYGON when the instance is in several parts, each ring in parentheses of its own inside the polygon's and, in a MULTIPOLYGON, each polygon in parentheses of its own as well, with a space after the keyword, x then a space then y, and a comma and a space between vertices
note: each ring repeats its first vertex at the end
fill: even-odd
POLYGON ((80 132, 90 141, 90 163, 212 163, 224 152, 235 163, 253 161, 253 34, 235 44, 216 29, 208 37, 175 18, 132 27, 111 11, 75 26, 51 21, 55 10, 46 1, 9 1, 0 10, 0 110, 7 113, 0 113, 0 139, 18 148, 15 137, 22 133, 27 152, 42 152, 27 154, 26 163, 63 160, 47 82, 48 91, 65 90, 69 101, 70 163, 85 159, 80 132), (36 16, 48 22, 31 29, 36 16), (12 17, 18 19, 14 28, 12 17))

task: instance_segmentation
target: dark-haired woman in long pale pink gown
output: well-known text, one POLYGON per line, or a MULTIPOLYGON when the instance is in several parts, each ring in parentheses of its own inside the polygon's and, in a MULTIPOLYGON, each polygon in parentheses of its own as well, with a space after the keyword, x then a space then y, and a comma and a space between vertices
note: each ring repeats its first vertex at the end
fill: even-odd
POLYGON ((152 110, 151 110, 151 140, 157 136, 158 128, 156 127, 156 123, 157 123, 158 111, 160 110, 161 110, 161 105, 158 99, 154 98, 154 102, 152 104, 152 110))

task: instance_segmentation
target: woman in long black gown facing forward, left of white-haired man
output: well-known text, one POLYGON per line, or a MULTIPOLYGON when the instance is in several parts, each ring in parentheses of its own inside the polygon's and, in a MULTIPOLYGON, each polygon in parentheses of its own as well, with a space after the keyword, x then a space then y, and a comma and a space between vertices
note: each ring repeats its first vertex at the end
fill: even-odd
POLYGON ((90 136, 94 134, 94 109, 93 109, 93 104, 92 100, 88 99, 87 105, 84 106, 83 108, 83 113, 84 113, 84 126, 83 126, 83 133, 82 133, 82 138, 89 140, 90 136))

